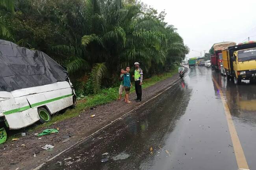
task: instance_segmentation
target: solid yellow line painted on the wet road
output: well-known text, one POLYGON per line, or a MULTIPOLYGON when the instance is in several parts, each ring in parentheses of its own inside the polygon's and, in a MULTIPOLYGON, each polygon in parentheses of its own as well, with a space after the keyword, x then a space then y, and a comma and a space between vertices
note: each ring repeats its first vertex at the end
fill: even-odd
POLYGON ((214 78, 213 78, 213 81, 214 81, 217 89, 219 90, 219 94, 220 94, 220 97, 221 97, 221 100, 222 100, 222 103, 224 106, 226 119, 228 122, 228 128, 229 128, 231 140, 232 140, 233 147, 234 147, 234 152, 236 155, 236 162, 237 162, 238 169, 239 170, 249 170, 249 166, 247 164, 245 154, 243 152, 243 148, 239 141, 239 137, 237 136, 236 128, 235 128, 234 122, 232 120, 230 110, 228 108, 228 103, 226 102, 226 99, 224 98, 223 92, 222 92, 221 88, 219 87, 219 84, 217 83, 217 81, 214 78))

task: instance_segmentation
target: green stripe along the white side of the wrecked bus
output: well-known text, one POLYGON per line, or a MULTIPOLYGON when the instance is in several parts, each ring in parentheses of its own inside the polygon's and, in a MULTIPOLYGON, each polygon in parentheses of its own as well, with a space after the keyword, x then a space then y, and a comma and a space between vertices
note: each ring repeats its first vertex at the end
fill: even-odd
MULTIPOLYGON (((73 94, 68 94, 68 95, 65 95, 65 96, 60 96, 58 98, 53 98, 53 99, 49 99, 49 100, 45 100, 45 101, 40 101, 38 103, 32 104, 31 107, 36 107, 36 106, 39 106, 39 105, 50 103, 52 101, 56 101, 56 100, 59 100, 59 99, 67 98, 67 97, 72 96, 72 95, 73 94)), ((25 106, 25 107, 20 107, 18 109, 9 110, 9 111, 4 112, 4 115, 8 115, 8 114, 12 114, 12 113, 17 113, 17 112, 22 112, 24 110, 30 109, 31 107, 30 106, 25 106)))

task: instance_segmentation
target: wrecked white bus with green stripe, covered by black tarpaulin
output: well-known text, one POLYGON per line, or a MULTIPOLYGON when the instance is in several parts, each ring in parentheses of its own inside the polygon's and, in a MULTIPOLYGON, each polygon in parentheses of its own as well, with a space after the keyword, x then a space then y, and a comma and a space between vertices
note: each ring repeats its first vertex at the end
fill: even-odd
POLYGON ((50 121, 52 114, 75 102, 74 88, 61 65, 44 52, 0 40, 0 128, 50 121))

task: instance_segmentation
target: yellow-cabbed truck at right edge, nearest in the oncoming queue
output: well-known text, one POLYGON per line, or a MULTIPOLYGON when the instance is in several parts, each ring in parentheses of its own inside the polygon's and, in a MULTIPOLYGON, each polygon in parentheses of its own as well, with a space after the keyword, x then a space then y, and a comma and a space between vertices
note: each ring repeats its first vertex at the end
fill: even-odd
POLYGON ((245 42, 222 50, 223 67, 228 80, 256 81, 256 42, 245 42))

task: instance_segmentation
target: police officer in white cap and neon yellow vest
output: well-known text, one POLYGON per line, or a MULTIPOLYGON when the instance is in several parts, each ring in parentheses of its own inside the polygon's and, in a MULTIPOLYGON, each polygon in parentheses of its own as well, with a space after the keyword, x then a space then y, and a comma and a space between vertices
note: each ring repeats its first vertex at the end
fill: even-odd
POLYGON ((142 85, 142 80, 143 80, 143 72, 142 69, 139 68, 139 63, 135 62, 134 63, 135 66, 135 71, 134 71, 134 81, 135 81, 135 91, 137 94, 137 98, 135 99, 135 101, 141 101, 141 96, 142 96, 142 89, 141 89, 141 85, 142 85))

